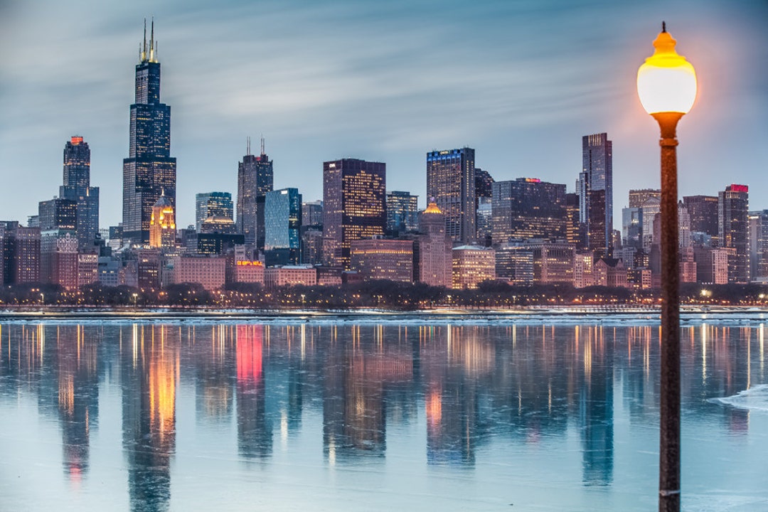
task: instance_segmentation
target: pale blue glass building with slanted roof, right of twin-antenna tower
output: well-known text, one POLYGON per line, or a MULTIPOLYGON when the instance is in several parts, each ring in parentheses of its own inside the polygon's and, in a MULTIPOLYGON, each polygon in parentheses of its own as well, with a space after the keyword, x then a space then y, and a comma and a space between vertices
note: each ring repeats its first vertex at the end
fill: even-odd
POLYGON ((267 192, 264 198, 264 254, 266 264, 301 263, 301 194, 284 188, 267 192))

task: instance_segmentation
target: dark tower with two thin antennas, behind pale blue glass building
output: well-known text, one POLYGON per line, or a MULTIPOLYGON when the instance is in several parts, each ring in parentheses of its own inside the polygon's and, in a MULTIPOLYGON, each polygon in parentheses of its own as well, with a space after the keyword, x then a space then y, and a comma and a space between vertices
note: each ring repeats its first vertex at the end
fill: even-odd
POLYGON ((237 164, 237 231, 245 236, 247 245, 264 248, 264 195, 273 187, 272 160, 264 152, 250 153, 250 137, 243 161, 237 164))

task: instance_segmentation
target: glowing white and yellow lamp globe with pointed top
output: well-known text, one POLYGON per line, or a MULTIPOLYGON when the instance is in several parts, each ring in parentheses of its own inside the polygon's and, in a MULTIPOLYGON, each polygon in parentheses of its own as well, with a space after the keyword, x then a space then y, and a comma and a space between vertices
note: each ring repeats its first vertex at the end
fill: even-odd
POLYGON ((677 41, 662 25, 654 55, 637 70, 637 95, 648 114, 687 114, 696 100, 696 71, 674 47, 677 41))

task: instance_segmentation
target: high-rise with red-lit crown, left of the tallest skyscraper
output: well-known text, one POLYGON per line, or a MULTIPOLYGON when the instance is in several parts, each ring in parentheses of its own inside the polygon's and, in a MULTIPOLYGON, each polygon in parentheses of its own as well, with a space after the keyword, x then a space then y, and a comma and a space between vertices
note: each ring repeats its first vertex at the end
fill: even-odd
POLYGON ((91 187, 91 149, 83 137, 71 137, 64 147, 63 183, 58 195, 77 203, 78 246, 92 246, 98 233, 99 189, 91 187))

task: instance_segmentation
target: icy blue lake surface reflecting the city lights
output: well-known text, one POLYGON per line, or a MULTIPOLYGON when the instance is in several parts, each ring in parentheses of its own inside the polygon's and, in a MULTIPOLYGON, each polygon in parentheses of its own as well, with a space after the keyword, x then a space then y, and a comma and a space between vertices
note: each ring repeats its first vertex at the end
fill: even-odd
MULTIPOLYGON (((684 322, 684 510, 768 510, 765 331, 684 322)), ((643 316, 5 320, 0 510, 654 510, 658 366, 643 316)))

